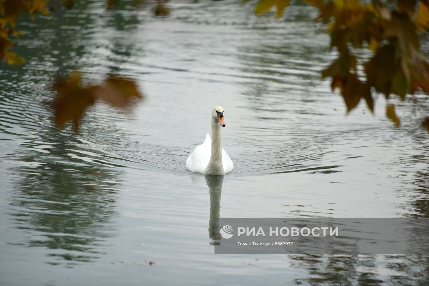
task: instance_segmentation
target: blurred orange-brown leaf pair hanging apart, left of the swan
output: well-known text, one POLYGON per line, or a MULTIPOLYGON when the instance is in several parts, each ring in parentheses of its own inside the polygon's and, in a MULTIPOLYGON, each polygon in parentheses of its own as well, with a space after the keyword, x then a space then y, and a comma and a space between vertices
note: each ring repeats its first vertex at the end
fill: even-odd
POLYGON ((56 80, 52 89, 57 93, 52 101, 55 124, 62 127, 71 121, 75 132, 79 130, 85 110, 97 101, 125 107, 133 103, 134 99, 143 97, 133 80, 116 75, 109 75, 103 85, 84 86, 81 73, 73 72, 66 80, 56 80))

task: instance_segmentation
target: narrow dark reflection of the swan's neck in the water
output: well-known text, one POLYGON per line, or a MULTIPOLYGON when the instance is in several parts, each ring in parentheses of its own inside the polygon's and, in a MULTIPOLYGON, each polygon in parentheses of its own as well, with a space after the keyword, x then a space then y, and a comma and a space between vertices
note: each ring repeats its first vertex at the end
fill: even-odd
POLYGON ((221 243, 219 233, 219 216, 221 212, 221 195, 224 176, 205 176, 205 183, 210 194, 210 219, 208 220, 208 237, 212 239, 211 245, 221 243))

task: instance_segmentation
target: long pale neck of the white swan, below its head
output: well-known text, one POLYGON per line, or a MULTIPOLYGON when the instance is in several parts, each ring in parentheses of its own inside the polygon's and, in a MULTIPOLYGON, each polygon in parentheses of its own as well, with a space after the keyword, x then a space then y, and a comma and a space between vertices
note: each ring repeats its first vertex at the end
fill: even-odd
POLYGON ((207 175, 224 175, 222 165, 222 136, 221 125, 218 120, 211 118, 211 153, 206 167, 207 175))

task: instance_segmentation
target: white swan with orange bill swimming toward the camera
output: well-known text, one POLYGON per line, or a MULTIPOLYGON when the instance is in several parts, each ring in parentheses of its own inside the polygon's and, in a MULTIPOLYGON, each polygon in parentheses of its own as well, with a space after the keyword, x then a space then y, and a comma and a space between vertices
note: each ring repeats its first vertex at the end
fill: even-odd
POLYGON ((207 133, 204 143, 196 146, 186 160, 186 168, 203 175, 225 175, 233 170, 234 164, 222 148, 221 126, 225 127, 224 109, 213 107, 211 112, 211 137, 207 133))

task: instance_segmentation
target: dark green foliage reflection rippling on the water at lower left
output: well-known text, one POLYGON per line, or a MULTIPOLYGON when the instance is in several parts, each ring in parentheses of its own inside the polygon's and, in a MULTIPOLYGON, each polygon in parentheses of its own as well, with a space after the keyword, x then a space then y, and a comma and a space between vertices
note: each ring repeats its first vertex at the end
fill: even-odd
POLYGON ((27 163, 16 168, 18 192, 11 204, 19 209, 12 216, 17 228, 36 231, 27 238, 28 246, 66 250, 49 255, 91 261, 100 257, 103 240, 115 230, 111 218, 120 173, 69 157, 76 142, 54 134, 51 129, 26 143, 39 152, 19 158, 27 163))

